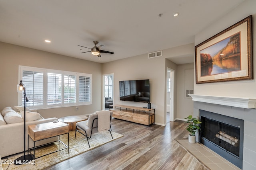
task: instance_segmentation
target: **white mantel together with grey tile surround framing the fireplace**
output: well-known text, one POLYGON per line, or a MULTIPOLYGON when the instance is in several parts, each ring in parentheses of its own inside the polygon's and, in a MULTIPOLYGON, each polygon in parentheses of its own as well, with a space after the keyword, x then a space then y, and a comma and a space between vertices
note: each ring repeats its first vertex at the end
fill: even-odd
MULTIPOLYGON (((243 170, 256 170, 256 99, 191 94, 195 117, 199 109, 244 120, 243 170)), ((197 139, 198 141, 198 139, 197 139)))

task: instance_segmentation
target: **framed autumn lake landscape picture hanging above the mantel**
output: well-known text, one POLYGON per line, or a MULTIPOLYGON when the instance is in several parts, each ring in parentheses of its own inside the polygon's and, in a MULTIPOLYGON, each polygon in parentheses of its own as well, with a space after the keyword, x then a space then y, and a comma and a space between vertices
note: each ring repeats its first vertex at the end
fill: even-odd
POLYGON ((196 45, 196 84, 253 79, 252 15, 196 45))

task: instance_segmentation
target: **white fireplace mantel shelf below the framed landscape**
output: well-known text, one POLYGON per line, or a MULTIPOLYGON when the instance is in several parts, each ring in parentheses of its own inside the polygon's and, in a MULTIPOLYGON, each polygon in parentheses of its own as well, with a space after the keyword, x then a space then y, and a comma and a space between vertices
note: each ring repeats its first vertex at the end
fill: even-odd
POLYGON ((256 108, 256 99, 242 97, 205 96, 189 94, 193 101, 220 104, 225 106, 241 107, 246 109, 256 108))

